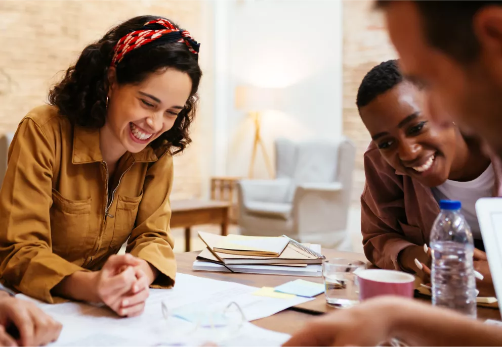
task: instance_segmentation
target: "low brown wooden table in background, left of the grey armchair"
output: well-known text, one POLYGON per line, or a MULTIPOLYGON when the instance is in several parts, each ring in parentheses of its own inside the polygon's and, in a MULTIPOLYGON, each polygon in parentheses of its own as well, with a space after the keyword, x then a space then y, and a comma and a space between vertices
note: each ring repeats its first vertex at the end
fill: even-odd
MULTIPOLYGON (((174 200, 171 202, 171 228, 185 228, 185 251, 190 251, 191 227, 220 224, 221 234, 228 233, 230 203, 214 200, 174 200)), ((193 262, 193 261, 192 261, 193 262)))

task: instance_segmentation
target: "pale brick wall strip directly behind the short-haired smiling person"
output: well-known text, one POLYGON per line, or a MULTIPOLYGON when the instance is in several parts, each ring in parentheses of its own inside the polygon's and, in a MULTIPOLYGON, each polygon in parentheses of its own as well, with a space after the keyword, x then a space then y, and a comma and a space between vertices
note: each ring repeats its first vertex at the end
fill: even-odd
POLYGON ((371 9, 372 3, 373 0, 344 0, 343 129, 357 146, 354 205, 359 204, 364 187, 363 154, 370 141, 355 104, 357 88, 373 66, 396 57, 382 17, 371 9))

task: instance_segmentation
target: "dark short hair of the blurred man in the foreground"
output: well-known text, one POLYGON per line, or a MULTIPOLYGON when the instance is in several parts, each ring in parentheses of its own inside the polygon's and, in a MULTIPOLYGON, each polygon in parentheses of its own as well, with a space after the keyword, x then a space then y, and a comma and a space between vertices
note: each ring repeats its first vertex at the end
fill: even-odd
MULTIPOLYGON (((397 0, 375 0, 384 8, 397 0)), ((429 44, 461 63, 470 63, 479 55, 479 42, 473 19, 483 7, 502 6, 502 0, 410 0, 419 9, 429 44)))

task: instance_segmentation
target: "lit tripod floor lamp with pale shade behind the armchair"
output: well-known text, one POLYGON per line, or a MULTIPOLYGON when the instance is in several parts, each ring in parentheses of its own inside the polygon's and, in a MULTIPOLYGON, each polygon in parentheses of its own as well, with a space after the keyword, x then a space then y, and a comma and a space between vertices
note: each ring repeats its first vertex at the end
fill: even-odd
POLYGON ((280 93, 275 88, 259 88, 259 87, 244 87, 236 88, 236 108, 247 111, 252 117, 255 124, 255 137, 253 142, 253 151, 249 163, 249 178, 254 178, 254 169, 258 147, 261 147, 263 159, 267 166, 270 178, 274 176, 272 163, 267 154, 265 143, 261 136, 261 112, 266 110, 274 110, 279 108, 280 93))

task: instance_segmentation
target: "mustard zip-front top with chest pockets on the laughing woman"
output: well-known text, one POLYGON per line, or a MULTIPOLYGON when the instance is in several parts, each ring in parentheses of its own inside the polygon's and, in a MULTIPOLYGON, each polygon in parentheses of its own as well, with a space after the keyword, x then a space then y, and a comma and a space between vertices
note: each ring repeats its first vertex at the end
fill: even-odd
POLYGON ((76 271, 98 270, 128 240, 127 252, 174 284, 169 229, 173 159, 147 146, 118 162, 108 198, 99 130, 73 127, 52 106, 32 110, 9 148, 0 190, 0 274, 34 298, 76 271))

